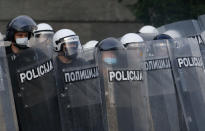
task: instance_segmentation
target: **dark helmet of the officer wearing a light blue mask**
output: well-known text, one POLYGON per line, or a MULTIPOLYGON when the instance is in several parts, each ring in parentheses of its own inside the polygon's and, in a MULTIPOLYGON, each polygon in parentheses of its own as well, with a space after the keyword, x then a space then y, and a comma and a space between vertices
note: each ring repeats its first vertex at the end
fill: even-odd
POLYGON ((116 38, 110 37, 102 40, 96 45, 100 51, 120 50, 124 49, 123 44, 116 38))

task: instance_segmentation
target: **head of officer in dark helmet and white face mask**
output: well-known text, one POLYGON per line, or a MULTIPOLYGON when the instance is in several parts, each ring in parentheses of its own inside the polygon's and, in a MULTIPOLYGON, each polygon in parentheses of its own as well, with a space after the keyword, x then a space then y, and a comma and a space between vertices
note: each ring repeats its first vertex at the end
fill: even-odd
POLYGON ((20 50, 28 48, 28 40, 33 35, 36 23, 29 16, 18 16, 12 19, 6 29, 5 41, 11 41, 10 47, 6 49, 7 54, 19 53, 20 50))

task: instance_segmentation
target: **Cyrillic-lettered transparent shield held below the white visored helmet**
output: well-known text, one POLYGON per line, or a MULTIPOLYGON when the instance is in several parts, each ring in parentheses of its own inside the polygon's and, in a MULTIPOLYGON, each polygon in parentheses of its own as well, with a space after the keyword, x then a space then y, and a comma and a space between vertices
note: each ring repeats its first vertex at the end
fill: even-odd
POLYGON ((54 57, 63 131, 105 130, 99 69, 93 58, 88 50, 54 57))

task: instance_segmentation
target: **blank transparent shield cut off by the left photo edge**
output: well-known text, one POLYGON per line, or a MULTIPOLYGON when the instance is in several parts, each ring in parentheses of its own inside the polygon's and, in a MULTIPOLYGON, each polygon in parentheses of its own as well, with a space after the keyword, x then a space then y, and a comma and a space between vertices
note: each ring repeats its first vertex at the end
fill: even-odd
POLYGON ((4 42, 0 41, 0 130, 18 131, 4 42))

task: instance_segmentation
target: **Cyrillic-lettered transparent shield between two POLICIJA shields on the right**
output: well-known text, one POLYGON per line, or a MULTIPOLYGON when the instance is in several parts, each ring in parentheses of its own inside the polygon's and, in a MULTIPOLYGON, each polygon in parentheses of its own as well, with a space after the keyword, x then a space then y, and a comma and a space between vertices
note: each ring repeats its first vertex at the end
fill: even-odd
POLYGON ((179 131, 180 124, 183 127, 179 121, 182 112, 179 112, 166 41, 146 43, 145 68, 154 129, 179 131))

